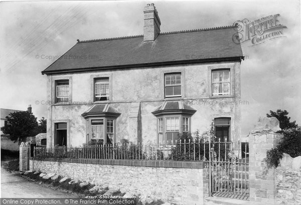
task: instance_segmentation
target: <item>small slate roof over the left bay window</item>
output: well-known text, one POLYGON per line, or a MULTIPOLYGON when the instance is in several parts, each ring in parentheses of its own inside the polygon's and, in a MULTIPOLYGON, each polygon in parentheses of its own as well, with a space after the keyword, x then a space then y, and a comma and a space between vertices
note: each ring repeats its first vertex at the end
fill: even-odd
POLYGON ((82 116, 89 117, 89 116, 111 116, 111 117, 118 117, 120 113, 118 110, 107 104, 95 104, 89 110, 82 114, 82 116))

